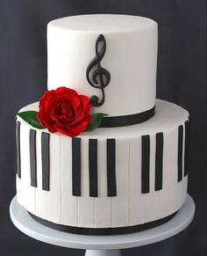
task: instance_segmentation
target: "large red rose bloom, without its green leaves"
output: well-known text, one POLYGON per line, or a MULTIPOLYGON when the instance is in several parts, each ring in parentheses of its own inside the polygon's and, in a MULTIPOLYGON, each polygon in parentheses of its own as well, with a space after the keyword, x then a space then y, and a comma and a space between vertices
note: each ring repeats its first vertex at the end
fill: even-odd
POLYGON ((39 100, 37 118, 51 133, 60 132, 74 137, 88 127, 91 121, 89 112, 89 97, 67 87, 59 87, 46 91, 39 100))

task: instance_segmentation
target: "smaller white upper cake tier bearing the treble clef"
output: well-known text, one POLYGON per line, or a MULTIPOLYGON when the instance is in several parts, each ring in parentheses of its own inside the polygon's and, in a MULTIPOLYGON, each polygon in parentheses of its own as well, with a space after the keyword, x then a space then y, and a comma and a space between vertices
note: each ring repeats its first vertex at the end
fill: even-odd
POLYGON ((121 117, 113 126, 153 115, 157 24, 152 19, 112 14, 56 19, 47 26, 47 58, 48 90, 66 86, 88 96, 92 113, 107 113, 108 121, 121 117))

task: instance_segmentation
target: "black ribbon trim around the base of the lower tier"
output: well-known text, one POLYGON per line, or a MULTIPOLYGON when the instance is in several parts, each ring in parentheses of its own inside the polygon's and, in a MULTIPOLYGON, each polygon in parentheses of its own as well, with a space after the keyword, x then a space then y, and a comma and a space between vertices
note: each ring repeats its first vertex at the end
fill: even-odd
POLYGON ((45 225, 48 228, 54 229, 54 230, 59 230, 62 232, 67 232, 67 233, 73 233, 73 234, 78 234, 78 235, 91 235, 91 236, 110 236, 110 235, 121 235, 121 234, 129 234, 129 233, 135 233, 143 230, 149 230, 153 229, 157 226, 160 226, 164 223, 168 223, 168 221, 175 216, 177 212, 174 214, 164 217, 160 220, 153 221, 151 223, 144 223, 144 224, 139 224, 139 225, 134 225, 134 226, 128 226, 128 227, 118 227, 118 228, 98 228, 98 229, 93 229, 93 228, 79 228, 79 227, 72 227, 72 226, 66 226, 66 225, 61 225, 61 224, 56 224, 56 223, 51 223, 49 221, 46 221, 42 218, 39 218, 38 216, 32 215, 30 212, 28 212, 32 218, 40 223, 45 225))

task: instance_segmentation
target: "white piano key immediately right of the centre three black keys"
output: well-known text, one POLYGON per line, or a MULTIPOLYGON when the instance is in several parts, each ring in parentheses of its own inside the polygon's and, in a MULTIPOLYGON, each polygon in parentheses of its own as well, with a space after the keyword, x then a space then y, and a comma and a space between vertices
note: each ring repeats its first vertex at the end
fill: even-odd
POLYGON ((129 223, 129 140, 116 140, 117 196, 112 197, 112 226, 129 223))

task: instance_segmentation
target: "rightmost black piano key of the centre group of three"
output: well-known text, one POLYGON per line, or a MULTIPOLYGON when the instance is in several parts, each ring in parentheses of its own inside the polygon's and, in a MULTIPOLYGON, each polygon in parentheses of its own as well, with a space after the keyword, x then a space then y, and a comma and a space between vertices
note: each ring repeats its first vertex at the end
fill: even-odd
POLYGON ((116 140, 107 139, 106 141, 107 158, 107 188, 108 196, 117 196, 116 183, 116 140))

